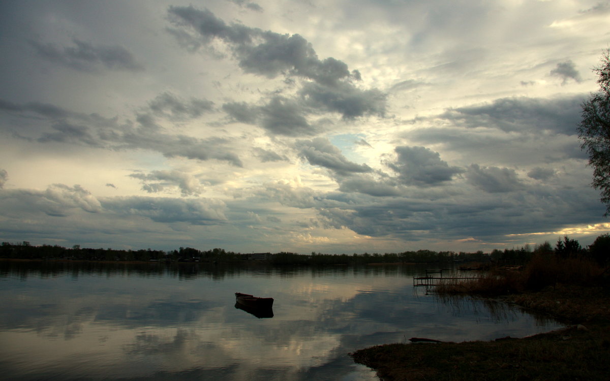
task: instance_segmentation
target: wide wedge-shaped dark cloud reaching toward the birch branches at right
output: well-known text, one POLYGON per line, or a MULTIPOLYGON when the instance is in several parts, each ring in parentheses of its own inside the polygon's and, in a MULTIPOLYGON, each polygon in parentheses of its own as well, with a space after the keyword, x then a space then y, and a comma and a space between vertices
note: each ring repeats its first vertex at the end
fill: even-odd
POLYGON ((550 130, 576 135, 576 124, 580 121, 581 104, 585 98, 501 98, 491 104, 447 110, 439 118, 470 128, 489 127, 506 132, 550 130))

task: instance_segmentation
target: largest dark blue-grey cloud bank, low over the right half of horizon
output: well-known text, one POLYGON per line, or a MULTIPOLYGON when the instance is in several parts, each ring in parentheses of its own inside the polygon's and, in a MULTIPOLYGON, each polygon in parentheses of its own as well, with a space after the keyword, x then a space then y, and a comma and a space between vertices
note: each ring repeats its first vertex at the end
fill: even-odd
POLYGON ((447 240, 475 237, 510 243, 507 233, 539 232, 540 226, 557 231, 565 227, 562 216, 570 215, 580 224, 595 211, 603 212, 597 192, 586 185, 526 186, 514 171, 498 167, 472 166, 468 175, 476 187, 392 186, 392 179, 373 180, 368 174, 354 174, 341 182, 338 192, 330 193, 276 182, 267 184, 256 199, 312 208, 318 222, 308 226, 346 227, 358 234, 406 241, 434 240, 441 234, 447 240))

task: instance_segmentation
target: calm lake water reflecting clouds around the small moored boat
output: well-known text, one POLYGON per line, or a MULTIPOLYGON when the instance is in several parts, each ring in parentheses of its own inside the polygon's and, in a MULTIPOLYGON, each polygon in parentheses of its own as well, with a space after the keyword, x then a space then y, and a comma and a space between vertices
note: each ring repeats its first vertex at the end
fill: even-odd
POLYGON ((0 262, 4 380, 375 380, 348 352, 558 327, 502 304, 440 301, 425 268, 0 262), (272 318, 235 291, 274 297, 272 318))

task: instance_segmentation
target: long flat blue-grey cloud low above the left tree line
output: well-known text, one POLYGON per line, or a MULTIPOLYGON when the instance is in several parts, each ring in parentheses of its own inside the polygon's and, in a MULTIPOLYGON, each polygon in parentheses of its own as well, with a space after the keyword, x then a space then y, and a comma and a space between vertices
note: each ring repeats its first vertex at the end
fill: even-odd
POLYGON ((117 215, 134 215, 157 223, 184 222, 194 225, 218 224, 226 220, 224 202, 213 199, 116 197, 101 199, 104 209, 117 215))

